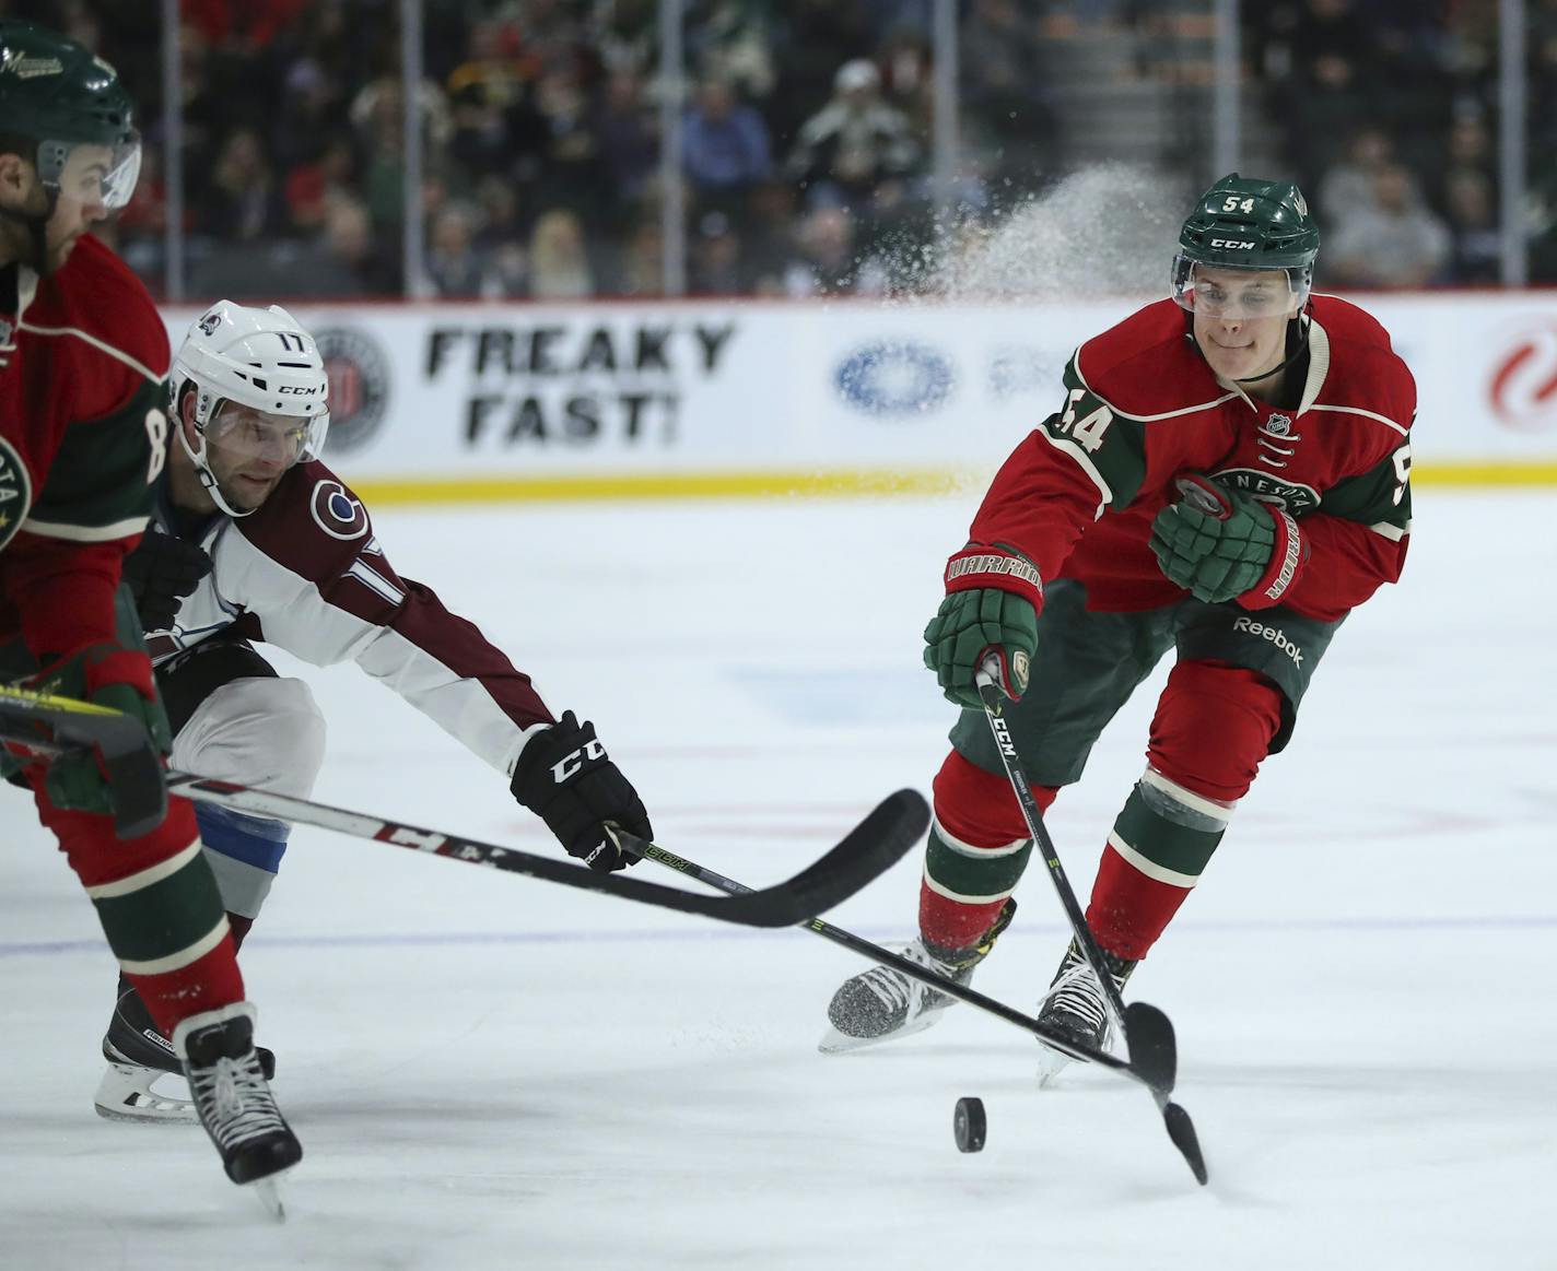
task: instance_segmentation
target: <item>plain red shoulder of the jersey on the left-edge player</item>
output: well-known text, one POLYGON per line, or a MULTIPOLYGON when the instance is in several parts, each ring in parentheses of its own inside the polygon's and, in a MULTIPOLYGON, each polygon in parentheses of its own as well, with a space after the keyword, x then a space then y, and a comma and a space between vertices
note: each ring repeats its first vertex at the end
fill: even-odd
POLYGON ((171 353, 162 314, 145 283, 107 246, 90 233, 83 235, 54 280, 58 286, 39 288, 37 308, 26 314, 30 324, 72 327, 107 345, 148 378, 167 376, 171 353))

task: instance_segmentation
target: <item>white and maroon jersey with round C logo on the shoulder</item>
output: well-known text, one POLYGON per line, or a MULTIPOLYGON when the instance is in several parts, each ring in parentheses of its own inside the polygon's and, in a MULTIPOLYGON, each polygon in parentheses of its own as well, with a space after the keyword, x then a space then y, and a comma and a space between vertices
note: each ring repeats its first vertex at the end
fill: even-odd
POLYGON ((324 464, 290 470, 249 516, 215 516, 199 543, 213 568, 173 628, 148 633, 154 663, 216 633, 315 666, 352 660, 503 773, 554 722, 529 677, 472 622, 395 574, 367 509, 324 464))

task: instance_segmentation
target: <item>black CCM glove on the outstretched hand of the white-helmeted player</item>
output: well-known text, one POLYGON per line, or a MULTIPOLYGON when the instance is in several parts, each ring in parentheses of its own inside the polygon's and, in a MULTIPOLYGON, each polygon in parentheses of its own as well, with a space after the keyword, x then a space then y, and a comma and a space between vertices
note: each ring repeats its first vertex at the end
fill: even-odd
POLYGON ((654 837, 638 792, 610 762, 595 725, 581 725, 573 711, 564 711, 562 719, 525 744, 511 789, 568 856, 592 870, 610 873, 638 862, 617 846, 606 826, 620 826, 638 839, 654 837))

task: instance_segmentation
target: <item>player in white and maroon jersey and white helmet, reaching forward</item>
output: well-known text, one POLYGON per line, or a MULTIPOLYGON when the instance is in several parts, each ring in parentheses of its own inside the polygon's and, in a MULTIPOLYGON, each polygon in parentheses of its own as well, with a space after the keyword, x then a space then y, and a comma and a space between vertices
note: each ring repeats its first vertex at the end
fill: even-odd
MULTIPOLYGON (((595 870, 634 863, 610 828, 649 839, 649 818, 595 727, 554 717, 475 625, 402 579, 367 509, 319 462, 327 378, 296 319, 276 305, 213 305, 174 356, 168 392, 181 445, 160 478, 162 534, 145 535, 125 579, 173 725, 171 765, 307 798, 324 719, 307 685, 279 677, 254 644, 316 666, 350 658, 503 773, 570 856, 595 870)), ((204 804, 196 814, 241 944, 290 826, 204 804)), ((123 979, 103 1055, 104 1117, 193 1120, 171 1044, 123 979)), ((272 1073, 274 1055, 262 1047, 260 1058, 272 1073)))

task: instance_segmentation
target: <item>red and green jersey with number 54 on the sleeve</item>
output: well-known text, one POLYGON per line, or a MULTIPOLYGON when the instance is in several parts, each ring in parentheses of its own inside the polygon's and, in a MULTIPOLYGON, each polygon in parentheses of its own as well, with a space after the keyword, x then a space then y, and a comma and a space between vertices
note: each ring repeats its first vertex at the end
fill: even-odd
POLYGON ((1336 619, 1395 582, 1411 535, 1411 423, 1417 390, 1367 313, 1316 296, 1308 375, 1295 409, 1218 378, 1172 300, 1082 344, 1063 408, 1001 467, 973 520, 1045 579, 1077 579, 1095 610, 1168 605, 1152 518, 1204 473, 1283 509, 1305 557, 1261 604, 1336 619))

